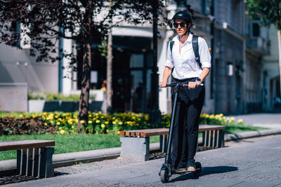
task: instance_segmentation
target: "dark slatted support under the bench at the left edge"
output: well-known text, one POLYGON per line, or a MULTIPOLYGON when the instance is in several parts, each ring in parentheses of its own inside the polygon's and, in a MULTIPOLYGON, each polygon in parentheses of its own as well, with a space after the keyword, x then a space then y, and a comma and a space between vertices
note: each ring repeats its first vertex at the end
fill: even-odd
POLYGON ((27 148, 17 151, 17 172, 23 176, 53 176, 54 148, 27 148))

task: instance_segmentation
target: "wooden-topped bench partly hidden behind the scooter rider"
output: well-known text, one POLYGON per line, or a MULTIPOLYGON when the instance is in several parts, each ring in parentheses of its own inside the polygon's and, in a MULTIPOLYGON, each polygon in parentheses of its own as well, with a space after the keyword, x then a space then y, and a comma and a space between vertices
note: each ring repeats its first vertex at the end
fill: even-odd
MULTIPOLYGON (((224 146, 223 125, 200 125, 199 132, 202 132, 203 146, 210 148, 219 148, 224 146)), ((160 136, 160 151, 166 152, 168 141, 168 128, 145 129, 145 130, 127 130, 120 134, 122 158, 131 158, 133 160, 149 160, 150 139, 152 136, 160 136)))

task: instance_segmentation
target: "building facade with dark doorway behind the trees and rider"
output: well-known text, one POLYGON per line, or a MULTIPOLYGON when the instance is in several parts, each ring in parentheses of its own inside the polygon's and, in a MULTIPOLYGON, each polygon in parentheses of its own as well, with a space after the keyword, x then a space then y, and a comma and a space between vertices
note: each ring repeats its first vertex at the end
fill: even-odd
MULTIPOLYGON (((246 6, 242 0, 188 0, 197 19, 193 20, 191 31, 202 36, 211 48, 211 72, 205 81, 206 97, 204 113, 250 113, 269 110, 274 85, 279 79, 268 68, 273 59, 264 58, 269 54, 268 29, 257 27, 247 18, 246 6), (263 61, 262 61, 263 60, 263 61), (268 63, 267 63, 268 62, 268 63), (263 84, 261 84, 263 83, 263 84), (270 91, 269 91, 270 90, 270 91), (270 92, 270 93, 269 93, 270 92)), ((169 1, 166 15, 169 19, 185 9, 184 1, 169 1)), ((176 36, 172 27, 159 27, 157 67, 159 80, 162 80, 164 62, 169 41, 176 36)), ((116 112, 149 113, 152 106, 152 25, 122 24, 112 28, 112 108, 116 112)), ((271 38, 270 38, 271 39, 271 38)), ((275 39, 276 41, 276 39, 275 39)), ((91 50, 91 93, 103 100, 100 90, 106 80, 106 59, 100 55, 98 46, 101 40, 93 41, 91 50)), ((78 45, 71 40, 60 39, 59 46, 73 50, 78 45)), ((277 44, 271 43, 271 46, 277 44)), ((275 47, 275 48, 276 48, 275 47)), ((23 50, 0 44, 0 82, 27 82, 29 90, 43 92, 63 92, 79 94, 81 85, 78 72, 67 72, 62 66, 67 60, 35 62, 28 55, 28 46, 23 50), (69 76, 78 81, 72 81, 69 76)), ((79 57, 79 51, 76 52, 79 57)), ((275 62, 275 59, 273 60, 275 62)), ((159 90, 159 109, 171 113, 171 90, 159 90)))

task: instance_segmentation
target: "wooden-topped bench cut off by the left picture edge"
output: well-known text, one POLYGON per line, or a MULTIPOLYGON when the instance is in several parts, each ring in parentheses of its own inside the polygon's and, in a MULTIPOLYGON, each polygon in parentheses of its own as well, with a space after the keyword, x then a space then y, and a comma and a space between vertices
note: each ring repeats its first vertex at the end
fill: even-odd
POLYGON ((23 176, 48 178, 53 176, 53 140, 0 141, 0 151, 17 150, 17 173, 23 176))

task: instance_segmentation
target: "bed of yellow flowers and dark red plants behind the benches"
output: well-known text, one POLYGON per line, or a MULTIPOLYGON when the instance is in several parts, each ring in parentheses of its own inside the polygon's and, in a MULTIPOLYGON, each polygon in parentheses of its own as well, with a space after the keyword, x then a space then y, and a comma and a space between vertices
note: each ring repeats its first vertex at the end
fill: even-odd
MULTIPOLYGON (((93 134, 119 134, 122 130, 136 130, 157 127, 169 127, 171 115, 163 115, 162 123, 148 123, 148 114, 144 113, 113 113, 110 115, 89 113, 88 125, 82 132, 93 134)), ((44 113, 0 113, 0 135, 9 134, 76 134, 78 112, 44 112, 44 113)), ((81 123, 85 123, 81 121, 81 123)), ((243 124, 240 120, 226 118, 223 114, 200 116, 200 124, 235 125, 243 124)))

